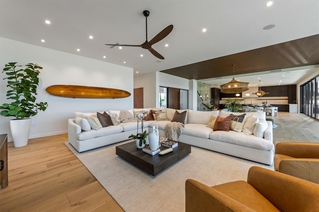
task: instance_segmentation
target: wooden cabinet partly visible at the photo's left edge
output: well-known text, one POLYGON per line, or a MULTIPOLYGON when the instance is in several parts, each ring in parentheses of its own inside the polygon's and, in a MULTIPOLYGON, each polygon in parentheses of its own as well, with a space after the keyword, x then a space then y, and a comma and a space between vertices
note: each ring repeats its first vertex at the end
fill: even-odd
POLYGON ((0 190, 8 186, 8 137, 0 135, 0 190))

